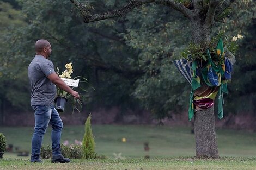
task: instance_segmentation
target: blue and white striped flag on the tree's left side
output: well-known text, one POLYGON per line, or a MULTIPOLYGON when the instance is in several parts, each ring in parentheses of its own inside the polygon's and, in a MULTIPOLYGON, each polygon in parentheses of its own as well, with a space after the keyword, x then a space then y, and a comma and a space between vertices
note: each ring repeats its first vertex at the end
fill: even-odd
POLYGON ((178 68, 180 73, 185 77, 185 79, 188 81, 188 83, 192 82, 192 72, 191 72, 191 66, 192 61, 187 61, 186 59, 180 59, 173 61, 174 65, 178 68))

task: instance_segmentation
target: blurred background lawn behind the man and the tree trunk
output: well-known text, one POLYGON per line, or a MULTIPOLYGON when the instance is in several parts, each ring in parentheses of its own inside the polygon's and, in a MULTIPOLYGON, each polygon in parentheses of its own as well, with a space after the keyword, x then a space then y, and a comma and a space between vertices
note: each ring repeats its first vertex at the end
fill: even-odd
MULTIPOLYGON (((154 125, 93 125, 96 152, 114 159, 115 154, 125 158, 144 158, 149 155, 153 158, 177 158, 195 156, 194 134, 190 127, 167 127, 154 125), (126 138, 126 142, 122 142, 126 138), (144 143, 148 142, 150 150, 144 151, 144 143)), ((33 127, 0 127, 0 132, 7 138, 7 144, 13 144, 20 150, 31 151, 33 127)), ((218 151, 223 156, 256 156, 256 133, 246 131, 217 129, 218 151)), ((82 141, 84 126, 65 126, 62 133, 62 142, 68 140, 82 141)), ((51 143, 51 127, 45 134, 43 144, 51 143)), ((29 159, 17 157, 13 153, 4 153, 4 158, 29 159)), ((256 168, 255 168, 256 169, 256 168)))

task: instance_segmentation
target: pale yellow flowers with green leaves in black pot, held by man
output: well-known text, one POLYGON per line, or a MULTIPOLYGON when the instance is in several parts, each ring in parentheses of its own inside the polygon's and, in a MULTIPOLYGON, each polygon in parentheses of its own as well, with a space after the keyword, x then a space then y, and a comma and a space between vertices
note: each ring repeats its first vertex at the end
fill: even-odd
MULTIPOLYGON (((66 68, 66 70, 64 70, 64 72, 62 72, 62 74, 60 74, 60 72, 59 72, 59 67, 57 67, 57 71, 56 71, 57 75, 58 75, 60 78, 63 78, 63 79, 71 79, 71 74, 73 73, 72 62, 67 63, 67 64, 65 65, 65 68, 66 68)), ((81 76, 77 76, 77 77, 75 77, 73 80, 77 80, 77 79, 78 79, 78 81, 80 81, 80 83, 87 82, 87 79, 84 78, 84 77, 81 77, 81 76), (79 80, 78 78, 80 78, 81 80, 79 80)), ((77 88, 76 91, 79 93, 79 95, 80 95, 81 98, 83 98, 83 96, 81 95, 81 93, 80 93, 78 90, 82 90, 82 91, 84 91, 84 92, 87 92, 85 89, 82 89, 81 87, 72 87, 72 86, 70 86, 70 87, 71 87, 71 89, 77 88)), ((55 101, 56 101, 56 102, 55 102, 55 103, 56 103, 56 110, 57 110, 58 112, 63 112, 63 111, 64 111, 64 106, 65 106, 66 101, 67 101, 70 97, 72 97, 72 96, 70 95, 70 93, 68 93, 68 92, 66 92, 66 91, 64 91, 64 90, 62 90, 62 89, 60 89, 59 87, 56 87, 56 88, 57 88, 57 97, 56 97, 56 100, 55 100, 55 101), (62 99, 58 99, 58 98, 62 98, 62 99), (62 102, 58 102, 58 101, 60 101, 60 100, 62 100, 64 104, 62 104, 62 102)), ((81 110, 82 110, 82 102, 81 102, 81 100, 78 99, 78 98, 73 98, 73 97, 72 97, 71 101, 72 101, 73 112, 74 112, 75 109, 76 109, 78 112, 81 112, 81 110)))

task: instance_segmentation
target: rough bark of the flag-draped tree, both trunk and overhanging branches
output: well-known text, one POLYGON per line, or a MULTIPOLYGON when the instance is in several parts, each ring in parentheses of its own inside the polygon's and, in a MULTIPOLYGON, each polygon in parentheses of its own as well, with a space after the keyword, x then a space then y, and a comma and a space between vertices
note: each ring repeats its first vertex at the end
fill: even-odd
MULTIPOLYGON (((80 10, 86 23, 120 17, 130 12, 133 8, 147 3, 166 5, 180 11, 190 20, 192 41, 200 44, 201 48, 206 49, 210 42, 210 33, 214 26, 215 18, 222 14, 234 0, 210 0, 209 2, 191 0, 190 4, 186 4, 186 6, 175 0, 130 0, 127 1, 124 7, 102 14, 90 14, 90 11, 77 0, 70 1, 80 10)), ((199 158, 218 158, 214 107, 196 112, 194 120, 196 156, 199 158)))

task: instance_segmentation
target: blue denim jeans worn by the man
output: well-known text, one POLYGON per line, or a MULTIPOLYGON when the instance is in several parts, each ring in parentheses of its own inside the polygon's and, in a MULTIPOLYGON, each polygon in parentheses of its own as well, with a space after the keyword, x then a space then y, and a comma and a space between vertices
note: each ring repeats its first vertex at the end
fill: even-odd
POLYGON ((38 160, 40 158, 42 138, 49 123, 52 125, 52 155, 58 156, 62 154, 60 150, 60 136, 62 135, 63 123, 54 105, 38 105, 32 106, 32 108, 35 114, 35 128, 32 137, 31 160, 38 160))

